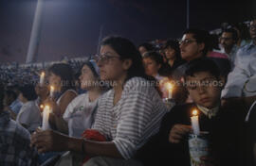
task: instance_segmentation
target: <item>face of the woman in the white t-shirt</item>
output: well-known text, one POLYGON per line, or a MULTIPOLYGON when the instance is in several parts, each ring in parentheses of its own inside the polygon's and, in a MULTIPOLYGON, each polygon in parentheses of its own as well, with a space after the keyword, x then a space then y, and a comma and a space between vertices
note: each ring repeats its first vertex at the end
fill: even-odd
POLYGON ((79 79, 83 90, 89 90, 97 84, 96 77, 87 65, 83 65, 79 79))

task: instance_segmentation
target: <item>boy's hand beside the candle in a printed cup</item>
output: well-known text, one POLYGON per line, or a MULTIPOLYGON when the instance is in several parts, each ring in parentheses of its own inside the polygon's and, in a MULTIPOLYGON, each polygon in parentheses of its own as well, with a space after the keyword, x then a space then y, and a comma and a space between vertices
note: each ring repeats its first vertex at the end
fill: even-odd
POLYGON ((179 143, 184 139, 184 136, 191 132, 191 130, 191 125, 174 125, 169 134, 169 141, 172 143, 179 143))

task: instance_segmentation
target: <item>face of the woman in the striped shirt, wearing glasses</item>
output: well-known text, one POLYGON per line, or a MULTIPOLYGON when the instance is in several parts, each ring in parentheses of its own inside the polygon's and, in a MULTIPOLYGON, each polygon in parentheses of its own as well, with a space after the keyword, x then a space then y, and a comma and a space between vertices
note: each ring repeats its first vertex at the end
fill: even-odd
POLYGON ((121 60, 119 54, 109 45, 101 46, 101 55, 98 60, 101 71, 101 80, 117 81, 125 78, 131 67, 131 60, 121 60))

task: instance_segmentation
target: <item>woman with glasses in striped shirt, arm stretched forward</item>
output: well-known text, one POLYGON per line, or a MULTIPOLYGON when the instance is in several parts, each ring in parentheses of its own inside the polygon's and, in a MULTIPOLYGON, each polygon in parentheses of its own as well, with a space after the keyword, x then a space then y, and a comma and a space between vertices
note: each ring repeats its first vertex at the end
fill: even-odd
POLYGON ((37 132, 31 138, 39 152, 73 151, 92 156, 84 165, 141 165, 133 159, 137 149, 158 131, 167 112, 146 75, 136 46, 127 39, 109 37, 101 42, 96 58, 101 80, 112 82, 113 89, 101 97, 93 129, 106 141, 89 141, 37 132))

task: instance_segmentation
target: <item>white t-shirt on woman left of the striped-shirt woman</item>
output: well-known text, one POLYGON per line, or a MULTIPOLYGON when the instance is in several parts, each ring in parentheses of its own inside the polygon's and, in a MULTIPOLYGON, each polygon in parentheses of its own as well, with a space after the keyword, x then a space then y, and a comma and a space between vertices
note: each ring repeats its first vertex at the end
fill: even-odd
POLYGON ((64 121, 68 123, 68 133, 71 137, 81 138, 82 132, 91 128, 94 121, 98 99, 89 102, 87 93, 77 96, 69 103, 64 112, 64 121))

